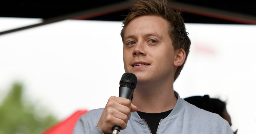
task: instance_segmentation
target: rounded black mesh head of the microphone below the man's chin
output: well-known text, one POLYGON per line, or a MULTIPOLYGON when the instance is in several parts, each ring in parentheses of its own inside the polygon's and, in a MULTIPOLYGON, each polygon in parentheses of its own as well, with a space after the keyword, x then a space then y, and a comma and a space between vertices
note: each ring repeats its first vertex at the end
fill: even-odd
POLYGON ((137 84, 136 75, 129 72, 124 73, 119 82, 120 86, 126 85, 126 86, 129 86, 132 90, 135 89, 136 84, 137 84))

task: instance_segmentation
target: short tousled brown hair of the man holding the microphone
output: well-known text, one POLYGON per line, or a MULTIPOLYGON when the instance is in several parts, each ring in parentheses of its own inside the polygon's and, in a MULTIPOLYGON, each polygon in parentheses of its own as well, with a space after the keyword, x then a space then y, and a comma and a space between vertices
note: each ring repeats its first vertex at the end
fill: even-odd
POLYGON ((122 40, 124 38, 124 31, 129 22, 138 17, 144 15, 156 15, 164 18, 168 24, 169 36, 172 40, 172 45, 174 50, 184 49, 186 53, 186 58, 184 63, 179 66, 174 75, 174 81, 178 78, 186 60, 187 55, 189 53, 189 49, 191 46, 191 41, 188 37, 187 29, 184 24, 184 19, 181 16, 181 11, 174 11, 168 5, 166 0, 140 0, 137 4, 131 6, 129 14, 123 20, 123 29, 121 30, 122 40))

